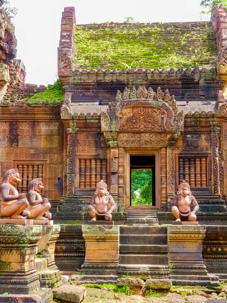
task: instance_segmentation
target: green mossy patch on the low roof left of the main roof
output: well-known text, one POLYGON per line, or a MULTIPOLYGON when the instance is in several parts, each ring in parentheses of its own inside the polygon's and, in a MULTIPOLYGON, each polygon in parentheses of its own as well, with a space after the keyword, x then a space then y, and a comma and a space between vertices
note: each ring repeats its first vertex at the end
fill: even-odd
POLYGON ((48 85, 44 91, 35 93, 31 98, 27 100, 27 102, 33 101, 34 104, 36 104, 38 100, 48 100, 50 105, 53 103, 53 101, 55 101, 57 104, 60 104, 61 100, 64 99, 64 95, 65 93, 62 82, 60 79, 57 79, 53 85, 48 85))

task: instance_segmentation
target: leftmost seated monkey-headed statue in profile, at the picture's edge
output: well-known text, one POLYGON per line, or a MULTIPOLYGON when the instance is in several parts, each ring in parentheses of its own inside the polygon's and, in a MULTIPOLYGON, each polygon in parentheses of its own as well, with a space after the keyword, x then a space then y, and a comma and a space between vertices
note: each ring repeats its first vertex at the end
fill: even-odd
POLYGON ((1 216, 11 219, 29 219, 27 210, 28 200, 25 193, 18 193, 17 184, 21 182, 18 169, 10 169, 5 172, 3 183, 0 187, 2 195, 1 216))

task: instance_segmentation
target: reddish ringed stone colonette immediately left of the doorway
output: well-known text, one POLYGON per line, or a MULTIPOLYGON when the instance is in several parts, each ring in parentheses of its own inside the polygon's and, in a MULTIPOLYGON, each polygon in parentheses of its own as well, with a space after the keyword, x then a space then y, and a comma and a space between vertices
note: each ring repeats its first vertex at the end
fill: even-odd
POLYGON ((124 210, 125 148, 118 148, 118 211, 124 210))

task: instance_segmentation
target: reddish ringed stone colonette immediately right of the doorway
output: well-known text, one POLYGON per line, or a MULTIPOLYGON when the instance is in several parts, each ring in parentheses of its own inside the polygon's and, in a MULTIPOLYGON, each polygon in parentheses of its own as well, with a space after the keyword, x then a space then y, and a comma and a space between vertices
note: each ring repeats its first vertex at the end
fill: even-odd
POLYGON ((161 207, 167 205, 167 150, 161 148, 161 207))

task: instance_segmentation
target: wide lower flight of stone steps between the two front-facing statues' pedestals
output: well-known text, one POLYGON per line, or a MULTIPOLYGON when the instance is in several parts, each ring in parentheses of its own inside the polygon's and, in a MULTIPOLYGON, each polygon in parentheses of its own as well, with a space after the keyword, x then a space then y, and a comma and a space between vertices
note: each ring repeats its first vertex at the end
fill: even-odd
POLYGON ((119 277, 169 277, 165 226, 121 226, 119 248, 119 277))

